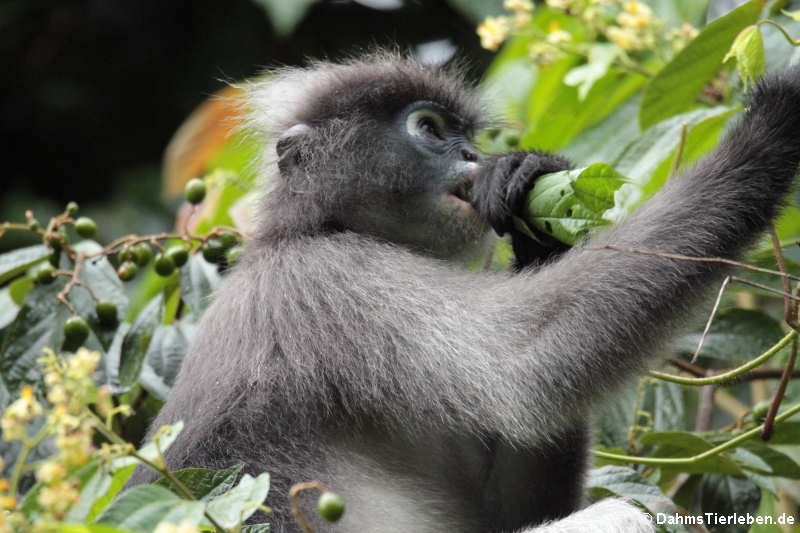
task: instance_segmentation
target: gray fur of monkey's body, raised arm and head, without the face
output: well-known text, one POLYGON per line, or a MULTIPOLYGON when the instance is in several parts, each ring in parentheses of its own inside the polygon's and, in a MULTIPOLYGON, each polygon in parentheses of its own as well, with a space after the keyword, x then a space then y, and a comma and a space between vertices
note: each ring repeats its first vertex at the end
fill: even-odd
POLYGON ((763 83, 717 151, 627 221, 516 275, 440 258, 481 248, 487 226, 442 223, 438 189, 418 172, 429 162, 399 157, 408 141, 375 118, 371 98, 391 106, 428 90, 471 127, 479 107, 458 77, 384 54, 282 71, 252 90, 253 123, 270 138, 311 131, 293 136, 301 157, 280 173, 267 157, 259 234, 153 424, 186 424, 170 466, 270 472, 275 532, 299 531, 286 495, 311 479, 348 505, 318 531, 650 531, 617 500, 575 512, 590 409, 646 367, 724 270, 596 248, 739 255, 800 161, 797 69, 763 83), (425 234, 392 239, 375 222, 403 216, 425 234))

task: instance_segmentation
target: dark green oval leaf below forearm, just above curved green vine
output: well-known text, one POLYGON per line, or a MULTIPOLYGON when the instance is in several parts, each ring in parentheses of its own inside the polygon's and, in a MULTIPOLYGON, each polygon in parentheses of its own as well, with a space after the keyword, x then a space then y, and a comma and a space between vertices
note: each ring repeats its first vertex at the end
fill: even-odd
MULTIPOLYGON (((675 351, 693 354, 702 330, 680 337, 675 351)), ((708 330, 702 357, 725 361, 747 361, 772 347, 783 336, 780 323, 763 311, 723 309, 714 317, 708 330)))

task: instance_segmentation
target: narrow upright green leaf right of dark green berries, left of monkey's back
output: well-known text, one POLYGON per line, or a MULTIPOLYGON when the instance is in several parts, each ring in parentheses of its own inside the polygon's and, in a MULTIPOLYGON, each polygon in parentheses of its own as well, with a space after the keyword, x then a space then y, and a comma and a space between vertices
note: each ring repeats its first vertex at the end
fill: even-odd
POLYGON ((158 294, 142 309, 130 330, 122 340, 119 355, 117 390, 127 390, 136 384, 142 370, 147 348, 156 328, 161 324, 164 313, 164 296, 158 294))

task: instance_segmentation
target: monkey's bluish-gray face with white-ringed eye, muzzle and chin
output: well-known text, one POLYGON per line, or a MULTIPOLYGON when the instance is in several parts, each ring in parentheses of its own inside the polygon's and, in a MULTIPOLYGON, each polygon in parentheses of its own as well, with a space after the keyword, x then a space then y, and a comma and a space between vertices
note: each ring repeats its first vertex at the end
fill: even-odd
POLYGON ((437 257, 484 250, 488 227, 469 200, 480 155, 461 119, 419 101, 381 134, 393 152, 383 173, 397 178, 348 209, 345 226, 437 257))

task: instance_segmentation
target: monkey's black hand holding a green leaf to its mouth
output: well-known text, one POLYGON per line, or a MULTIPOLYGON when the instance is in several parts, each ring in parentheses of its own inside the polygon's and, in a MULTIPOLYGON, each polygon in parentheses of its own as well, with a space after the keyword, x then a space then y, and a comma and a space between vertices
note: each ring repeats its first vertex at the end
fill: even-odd
POLYGON ((514 217, 522 213, 537 178, 570 168, 566 159, 545 152, 510 152, 481 162, 472 187, 472 203, 498 235, 511 234, 518 270, 569 248, 560 242, 546 246, 534 241, 515 229, 514 217))

